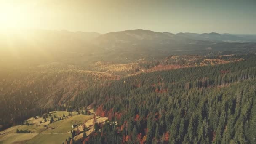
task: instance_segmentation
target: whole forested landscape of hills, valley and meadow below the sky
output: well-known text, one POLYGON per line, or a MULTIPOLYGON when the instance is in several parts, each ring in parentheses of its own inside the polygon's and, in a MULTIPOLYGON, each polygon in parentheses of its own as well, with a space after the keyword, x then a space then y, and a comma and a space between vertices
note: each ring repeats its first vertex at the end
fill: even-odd
POLYGON ((256 44, 226 36, 40 31, 37 45, 2 42, 0 144, 253 143, 256 44))

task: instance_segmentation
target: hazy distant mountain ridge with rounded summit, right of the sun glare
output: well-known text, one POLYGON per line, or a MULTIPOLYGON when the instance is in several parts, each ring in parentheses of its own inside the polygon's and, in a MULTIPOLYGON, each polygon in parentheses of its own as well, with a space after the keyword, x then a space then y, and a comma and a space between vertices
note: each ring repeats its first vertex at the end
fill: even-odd
POLYGON ((177 33, 154 32, 151 30, 125 30, 101 34, 91 40, 97 47, 106 49, 131 48, 131 47, 173 47, 173 45, 196 43, 255 43, 256 35, 235 35, 211 33, 177 33))

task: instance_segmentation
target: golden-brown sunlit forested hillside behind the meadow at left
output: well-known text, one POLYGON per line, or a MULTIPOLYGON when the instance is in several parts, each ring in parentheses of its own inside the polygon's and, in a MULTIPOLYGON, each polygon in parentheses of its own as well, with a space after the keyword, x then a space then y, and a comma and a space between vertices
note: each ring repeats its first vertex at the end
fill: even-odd
MULTIPOLYGON (((107 85, 116 75, 85 71, 61 64, 16 71, 0 71, 0 125, 19 125, 29 117, 66 110, 80 91, 95 84, 107 85), (59 67, 58 67, 59 66, 59 67)), ((1 127, 0 127, 1 128, 1 127)))

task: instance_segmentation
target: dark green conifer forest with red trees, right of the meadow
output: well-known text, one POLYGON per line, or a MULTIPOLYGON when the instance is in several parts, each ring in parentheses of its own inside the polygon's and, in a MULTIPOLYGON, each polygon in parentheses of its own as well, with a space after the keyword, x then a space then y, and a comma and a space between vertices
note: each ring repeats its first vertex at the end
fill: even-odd
POLYGON ((92 103, 109 123, 76 143, 255 143, 255 61, 248 55, 236 63, 146 73, 89 88, 71 107, 92 103))

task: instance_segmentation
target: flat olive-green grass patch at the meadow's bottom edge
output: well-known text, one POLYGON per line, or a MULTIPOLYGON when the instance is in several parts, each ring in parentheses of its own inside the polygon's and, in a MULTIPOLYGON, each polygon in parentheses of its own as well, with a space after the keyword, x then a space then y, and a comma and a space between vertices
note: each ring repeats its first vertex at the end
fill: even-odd
POLYGON ((69 136, 71 136, 70 133, 40 133, 34 138, 27 141, 26 144, 61 144, 69 136))

